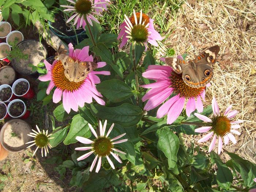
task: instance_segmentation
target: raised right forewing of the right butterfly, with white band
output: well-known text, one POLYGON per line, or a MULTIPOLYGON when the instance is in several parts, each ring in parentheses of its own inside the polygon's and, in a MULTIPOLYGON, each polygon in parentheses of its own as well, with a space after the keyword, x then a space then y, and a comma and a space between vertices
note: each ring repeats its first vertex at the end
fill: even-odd
POLYGON ((219 46, 215 45, 200 53, 194 60, 195 64, 214 64, 217 61, 219 46))

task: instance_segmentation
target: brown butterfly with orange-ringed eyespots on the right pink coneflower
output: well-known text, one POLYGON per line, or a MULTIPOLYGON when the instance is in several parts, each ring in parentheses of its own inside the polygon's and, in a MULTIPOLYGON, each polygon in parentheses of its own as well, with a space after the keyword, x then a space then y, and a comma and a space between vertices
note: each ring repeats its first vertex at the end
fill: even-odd
POLYGON ((215 45, 205 49, 193 61, 167 57, 165 62, 177 74, 182 73, 182 79, 188 86, 199 88, 206 86, 213 78, 214 71, 210 65, 216 63, 218 53, 219 46, 215 45))

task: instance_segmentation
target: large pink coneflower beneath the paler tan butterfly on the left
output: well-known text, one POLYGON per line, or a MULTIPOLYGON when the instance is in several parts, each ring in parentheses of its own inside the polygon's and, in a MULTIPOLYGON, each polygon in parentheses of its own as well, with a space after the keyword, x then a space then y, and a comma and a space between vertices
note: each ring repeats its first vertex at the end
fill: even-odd
MULTIPOLYGON (((81 49, 73 48, 70 43, 69 47, 69 57, 78 61, 93 61, 93 56, 89 56, 89 46, 81 49)), ((83 107, 84 103, 93 102, 93 98, 101 105, 105 105, 105 102, 99 98, 102 95, 97 91, 95 84, 100 83, 100 79, 96 74, 110 75, 109 71, 91 71, 86 79, 81 82, 75 83, 70 82, 64 75, 64 67, 61 60, 55 60, 53 65, 49 64, 44 60, 45 67, 47 69, 47 74, 40 76, 38 79, 41 81, 49 81, 48 89, 46 93, 49 94, 53 87, 56 87, 53 93, 53 102, 58 103, 61 101, 61 96, 63 96, 63 107, 67 113, 71 109, 78 111, 78 106, 83 107)), ((105 62, 98 62, 98 68, 104 67, 105 62)))

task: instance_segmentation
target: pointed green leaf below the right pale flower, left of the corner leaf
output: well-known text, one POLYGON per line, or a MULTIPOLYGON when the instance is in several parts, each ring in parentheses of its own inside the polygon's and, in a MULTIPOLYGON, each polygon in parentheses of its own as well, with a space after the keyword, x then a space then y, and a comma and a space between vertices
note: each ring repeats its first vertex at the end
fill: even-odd
POLYGON ((216 165, 218 166, 218 170, 217 170, 218 184, 225 189, 229 189, 230 185, 233 182, 233 175, 229 170, 229 167, 227 167, 224 163, 222 163, 218 159, 215 159, 215 162, 216 162, 216 165))

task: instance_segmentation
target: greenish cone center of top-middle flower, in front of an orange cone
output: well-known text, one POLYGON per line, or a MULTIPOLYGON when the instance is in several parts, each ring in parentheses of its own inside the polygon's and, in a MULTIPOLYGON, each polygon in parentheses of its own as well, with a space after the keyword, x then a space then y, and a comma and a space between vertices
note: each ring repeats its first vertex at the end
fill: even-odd
POLYGON ((148 30, 144 25, 135 25, 131 31, 132 40, 136 42, 146 42, 148 30))

